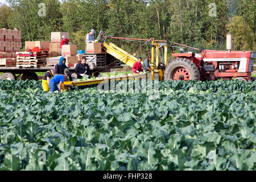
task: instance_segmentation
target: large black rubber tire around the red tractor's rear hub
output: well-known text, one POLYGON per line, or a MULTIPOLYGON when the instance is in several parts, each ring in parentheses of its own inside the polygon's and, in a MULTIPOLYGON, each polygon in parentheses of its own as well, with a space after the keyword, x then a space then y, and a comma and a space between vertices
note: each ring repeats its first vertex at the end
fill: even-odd
POLYGON ((179 58, 171 61, 167 66, 166 71, 164 72, 164 81, 174 80, 174 72, 178 68, 185 68, 189 73, 186 78, 179 77, 178 80, 200 80, 200 72, 196 65, 188 59, 179 58))

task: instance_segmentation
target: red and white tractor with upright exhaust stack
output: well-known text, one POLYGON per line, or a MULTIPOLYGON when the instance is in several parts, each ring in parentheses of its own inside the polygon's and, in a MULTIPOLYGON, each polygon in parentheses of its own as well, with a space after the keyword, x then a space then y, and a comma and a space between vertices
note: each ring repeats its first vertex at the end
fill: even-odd
MULTIPOLYGON (((251 79, 251 72, 253 72, 255 52, 230 51, 231 45, 232 38, 227 36, 228 51, 208 49, 200 51, 197 48, 192 48, 200 53, 173 53, 172 56, 175 56, 177 59, 168 64, 164 72, 164 80, 205 81, 217 79, 230 80, 234 78, 249 81, 251 79)), ((180 44, 180 46, 183 45, 180 44)))

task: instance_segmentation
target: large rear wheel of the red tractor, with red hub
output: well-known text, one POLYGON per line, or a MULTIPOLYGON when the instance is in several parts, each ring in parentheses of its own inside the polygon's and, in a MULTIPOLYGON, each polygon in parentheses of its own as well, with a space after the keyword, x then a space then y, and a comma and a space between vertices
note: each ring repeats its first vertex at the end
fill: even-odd
POLYGON ((196 65, 184 58, 171 61, 164 72, 164 81, 167 80, 200 80, 200 72, 196 65))

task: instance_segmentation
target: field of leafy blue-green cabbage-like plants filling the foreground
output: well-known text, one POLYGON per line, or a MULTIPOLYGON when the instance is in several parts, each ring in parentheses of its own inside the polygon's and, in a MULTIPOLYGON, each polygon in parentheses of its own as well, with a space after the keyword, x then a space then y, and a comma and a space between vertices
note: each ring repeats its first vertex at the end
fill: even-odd
POLYGON ((256 81, 43 93, 0 81, 0 170, 256 170, 256 81))

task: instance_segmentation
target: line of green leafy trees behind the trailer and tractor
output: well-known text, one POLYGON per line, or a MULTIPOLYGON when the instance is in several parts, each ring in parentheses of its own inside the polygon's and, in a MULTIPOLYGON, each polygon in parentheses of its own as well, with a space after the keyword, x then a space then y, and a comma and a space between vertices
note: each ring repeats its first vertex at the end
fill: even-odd
MULTIPOLYGON (((69 32, 79 49, 93 28, 105 35, 170 40, 200 49, 225 49, 226 33, 234 50, 256 51, 253 0, 7 0, 0 6, 0 27, 18 28, 22 42, 50 40, 69 32), (43 5, 42 5, 43 3, 43 5)), ((97 35, 96 35, 97 36, 97 35)), ((142 43, 114 40, 127 51, 142 43)), ((141 49, 141 52, 148 48, 141 49)))

